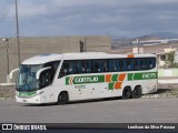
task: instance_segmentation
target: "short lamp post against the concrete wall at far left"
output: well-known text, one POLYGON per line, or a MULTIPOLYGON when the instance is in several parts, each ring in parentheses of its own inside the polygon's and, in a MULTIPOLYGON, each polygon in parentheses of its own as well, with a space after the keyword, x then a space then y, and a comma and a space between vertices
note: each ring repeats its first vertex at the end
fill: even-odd
POLYGON ((10 78, 9 78, 9 39, 3 38, 3 42, 7 42, 6 49, 7 49, 7 83, 10 83, 10 78))

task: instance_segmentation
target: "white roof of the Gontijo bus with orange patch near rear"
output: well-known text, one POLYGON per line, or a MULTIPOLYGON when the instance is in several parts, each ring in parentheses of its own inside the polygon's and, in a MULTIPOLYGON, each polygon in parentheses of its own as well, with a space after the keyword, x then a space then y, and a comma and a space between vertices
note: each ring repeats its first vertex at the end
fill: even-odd
POLYGON ((59 60, 82 60, 82 59, 112 59, 112 58, 146 58, 156 57, 156 54, 112 54, 105 52, 83 52, 83 53, 47 53, 29 58, 22 64, 43 64, 59 60))

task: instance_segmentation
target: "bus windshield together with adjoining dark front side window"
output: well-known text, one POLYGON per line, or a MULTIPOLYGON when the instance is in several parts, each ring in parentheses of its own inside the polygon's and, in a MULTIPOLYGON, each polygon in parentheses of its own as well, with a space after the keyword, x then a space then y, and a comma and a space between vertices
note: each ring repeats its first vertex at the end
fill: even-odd
POLYGON ((22 64, 19 71, 17 80, 17 91, 37 91, 50 85, 53 81, 55 73, 58 69, 60 61, 52 61, 44 64, 24 65, 22 64), (42 68, 48 68, 40 73, 40 78, 37 79, 37 72, 42 68))

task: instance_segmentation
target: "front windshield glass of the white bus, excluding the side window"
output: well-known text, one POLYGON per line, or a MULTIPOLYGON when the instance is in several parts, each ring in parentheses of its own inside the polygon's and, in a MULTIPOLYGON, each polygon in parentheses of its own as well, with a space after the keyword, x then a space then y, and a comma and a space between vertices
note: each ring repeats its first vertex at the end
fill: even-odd
POLYGON ((39 80, 36 79, 36 73, 42 68, 41 64, 38 65, 21 65, 18 80, 17 90, 18 91, 36 91, 39 89, 39 80))

